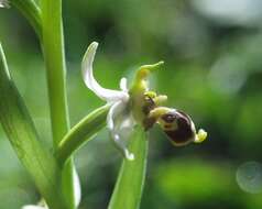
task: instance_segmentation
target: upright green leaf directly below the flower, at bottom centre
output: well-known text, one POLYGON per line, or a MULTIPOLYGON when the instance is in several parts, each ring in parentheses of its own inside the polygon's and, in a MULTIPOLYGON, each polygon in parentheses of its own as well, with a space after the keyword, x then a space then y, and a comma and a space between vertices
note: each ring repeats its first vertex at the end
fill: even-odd
POLYGON ((109 209, 138 209, 140 206, 149 144, 144 128, 137 125, 130 140, 129 150, 134 154, 135 160, 123 160, 113 195, 109 202, 109 209))

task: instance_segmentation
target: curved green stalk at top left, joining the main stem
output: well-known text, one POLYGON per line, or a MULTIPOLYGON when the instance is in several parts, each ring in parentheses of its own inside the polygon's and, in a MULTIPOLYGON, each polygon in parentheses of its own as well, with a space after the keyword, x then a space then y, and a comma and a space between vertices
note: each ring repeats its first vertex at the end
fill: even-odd
POLYGON ((42 21, 41 21, 41 10, 39 6, 33 0, 10 0, 11 6, 14 6, 30 22, 34 28, 35 33, 39 35, 40 40, 42 36, 42 21))

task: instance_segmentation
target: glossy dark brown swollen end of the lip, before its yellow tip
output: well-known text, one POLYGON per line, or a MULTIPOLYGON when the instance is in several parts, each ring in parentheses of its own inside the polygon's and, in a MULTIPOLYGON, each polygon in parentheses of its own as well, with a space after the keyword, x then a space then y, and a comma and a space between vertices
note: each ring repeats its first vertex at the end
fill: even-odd
POLYGON ((184 112, 173 113, 176 118, 177 129, 166 130, 165 133, 175 145, 185 145, 193 141, 194 132, 190 125, 190 118, 184 112))

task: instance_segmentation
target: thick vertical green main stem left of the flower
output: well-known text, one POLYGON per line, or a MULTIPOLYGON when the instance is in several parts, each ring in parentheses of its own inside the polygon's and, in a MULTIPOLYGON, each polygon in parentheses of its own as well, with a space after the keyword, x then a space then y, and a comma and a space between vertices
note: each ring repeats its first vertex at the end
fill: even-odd
MULTIPOLYGON (((65 92, 65 53, 62 23, 62 0, 42 0, 42 37, 47 70, 48 97, 54 148, 67 133, 68 113, 65 92)), ((63 168, 63 193, 69 209, 75 208, 73 160, 63 168)))

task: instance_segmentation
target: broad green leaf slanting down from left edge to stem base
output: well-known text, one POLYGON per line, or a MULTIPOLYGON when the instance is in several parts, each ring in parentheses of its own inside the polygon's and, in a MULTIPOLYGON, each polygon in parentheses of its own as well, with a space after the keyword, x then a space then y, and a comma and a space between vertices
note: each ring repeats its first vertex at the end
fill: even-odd
POLYGON ((0 122, 18 157, 51 209, 66 209, 61 194, 61 168, 39 141, 29 111, 15 88, 0 44, 0 122))

